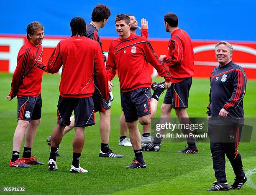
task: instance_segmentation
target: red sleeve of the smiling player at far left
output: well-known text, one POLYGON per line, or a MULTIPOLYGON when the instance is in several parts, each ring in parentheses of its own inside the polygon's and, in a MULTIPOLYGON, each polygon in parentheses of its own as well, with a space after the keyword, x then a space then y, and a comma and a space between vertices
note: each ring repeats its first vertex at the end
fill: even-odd
POLYGON ((31 63, 31 60, 33 60, 33 55, 31 54, 30 50, 31 48, 27 48, 25 52, 22 52, 18 55, 17 66, 13 73, 11 91, 9 94, 11 99, 16 96, 20 82, 22 81, 23 76, 26 73, 25 71, 28 68, 28 65, 31 63))

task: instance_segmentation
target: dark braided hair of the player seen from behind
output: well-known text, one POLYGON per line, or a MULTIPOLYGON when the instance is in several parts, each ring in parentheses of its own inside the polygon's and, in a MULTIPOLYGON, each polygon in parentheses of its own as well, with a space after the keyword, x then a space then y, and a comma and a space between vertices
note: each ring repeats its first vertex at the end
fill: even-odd
POLYGON ((85 34, 86 23, 85 23, 84 18, 74 17, 70 21, 70 27, 71 27, 71 32, 72 32, 71 37, 75 36, 76 34, 86 37, 86 34, 85 34))

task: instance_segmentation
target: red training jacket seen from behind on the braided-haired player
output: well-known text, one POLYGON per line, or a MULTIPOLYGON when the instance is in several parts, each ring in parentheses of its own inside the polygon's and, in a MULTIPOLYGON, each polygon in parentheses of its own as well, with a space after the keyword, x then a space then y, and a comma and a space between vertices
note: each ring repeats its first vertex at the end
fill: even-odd
POLYGON ((48 65, 38 61, 45 72, 56 73, 62 66, 59 92, 62 97, 90 97, 94 92, 94 70, 102 98, 107 100, 108 77, 100 44, 87 37, 73 36, 61 40, 52 53, 48 65))

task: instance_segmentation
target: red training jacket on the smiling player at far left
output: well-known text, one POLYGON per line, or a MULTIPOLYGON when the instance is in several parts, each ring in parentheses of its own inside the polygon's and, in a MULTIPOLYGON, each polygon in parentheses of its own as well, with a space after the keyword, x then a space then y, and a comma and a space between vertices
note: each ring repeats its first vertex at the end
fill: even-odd
POLYGON ((36 67, 35 59, 42 60, 43 47, 36 47, 31 41, 20 48, 17 57, 17 67, 13 73, 10 97, 16 95, 37 97, 41 93, 43 71, 36 67))

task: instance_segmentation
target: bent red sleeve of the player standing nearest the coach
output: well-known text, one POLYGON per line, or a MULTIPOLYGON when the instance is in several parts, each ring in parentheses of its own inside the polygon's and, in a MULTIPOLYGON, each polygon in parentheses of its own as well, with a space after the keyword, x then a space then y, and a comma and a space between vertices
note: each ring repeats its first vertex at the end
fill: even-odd
POLYGON ((179 65, 182 60, 182 41, 173 35, 168 47, 168 56, 164 57, 163 62, 168 66, 179 65))

